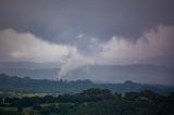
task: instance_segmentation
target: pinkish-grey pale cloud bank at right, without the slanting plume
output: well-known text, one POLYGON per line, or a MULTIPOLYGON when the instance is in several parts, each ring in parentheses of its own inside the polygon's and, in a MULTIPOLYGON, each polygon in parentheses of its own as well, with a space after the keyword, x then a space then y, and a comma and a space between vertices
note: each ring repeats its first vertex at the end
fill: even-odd
MULTIPOLYGON (((98 43, 102 50, 96 60, 100 59, 100 63, 107 64, 154 64, 147 59, 174 58, 173 38, 174 26, 152 28, 139 37, 136 42, 113 36, 107 42, 98 43)), ((162 64, 162 62, 156 62, 156 64, 162 64)))

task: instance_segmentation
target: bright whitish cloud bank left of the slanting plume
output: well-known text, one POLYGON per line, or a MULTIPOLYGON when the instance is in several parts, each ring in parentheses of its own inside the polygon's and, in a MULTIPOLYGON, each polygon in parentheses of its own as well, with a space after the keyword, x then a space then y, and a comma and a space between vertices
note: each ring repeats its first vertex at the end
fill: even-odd
POLYGON ((16 33, 14 29, 0 31, 1 62, 62 62, 73 47, 50 43, 30 33, 16 33))

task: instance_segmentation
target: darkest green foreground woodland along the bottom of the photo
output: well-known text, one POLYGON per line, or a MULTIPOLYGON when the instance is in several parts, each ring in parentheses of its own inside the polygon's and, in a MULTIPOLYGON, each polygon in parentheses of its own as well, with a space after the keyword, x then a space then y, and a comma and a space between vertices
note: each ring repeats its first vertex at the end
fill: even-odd
POLYGON ((91 88, 74 94, 0 98, 0 115, 173 115, 174 92, 126 92, 91 88))

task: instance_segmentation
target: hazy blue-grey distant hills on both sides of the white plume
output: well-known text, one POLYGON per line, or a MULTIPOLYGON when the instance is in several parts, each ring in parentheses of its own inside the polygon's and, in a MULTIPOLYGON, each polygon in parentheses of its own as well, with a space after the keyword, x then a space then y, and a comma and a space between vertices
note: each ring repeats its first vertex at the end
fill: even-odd
MULTIPOLYGON (((57 79, 60 73, 58 63, 0 63, 0 74, 34 79, 57 79)), ((63 79, 91 79, 94 81, 136 82, 174 85, 174 67, 157 65, 91 65, 73 69, 62 76, 63 79)))

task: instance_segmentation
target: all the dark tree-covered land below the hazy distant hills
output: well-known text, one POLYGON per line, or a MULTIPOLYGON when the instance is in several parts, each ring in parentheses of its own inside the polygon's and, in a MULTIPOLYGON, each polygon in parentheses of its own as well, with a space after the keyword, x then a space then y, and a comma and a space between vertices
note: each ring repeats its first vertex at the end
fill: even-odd
POLYGON ((172 115, 173 87, 0 75, 0 115, 172 115))

